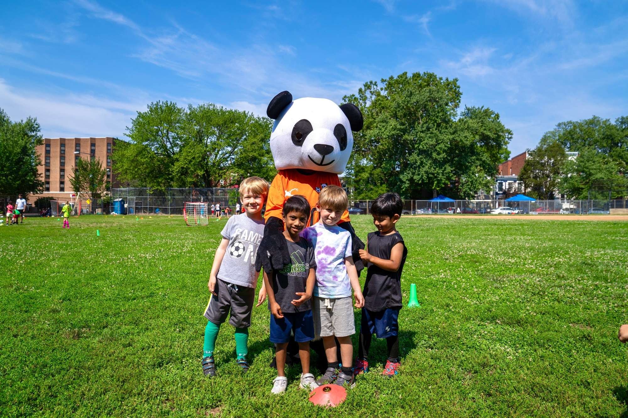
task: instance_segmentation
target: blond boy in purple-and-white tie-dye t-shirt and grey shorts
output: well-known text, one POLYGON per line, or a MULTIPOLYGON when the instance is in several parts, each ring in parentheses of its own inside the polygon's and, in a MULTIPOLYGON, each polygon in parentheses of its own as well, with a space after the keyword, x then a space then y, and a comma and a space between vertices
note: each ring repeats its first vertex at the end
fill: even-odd
POLYGON ((342 188, 325 187, 318 195, 316 205, 320 220, 303 231, 303 238, 314 247, 317 264, 312 303, 314 330, 323 338, 327 355, 327 370, 317 380, 318 385, 355 386, 350 366, 353 360, 351 336, 355 334, 351 289, 354 290, 356 308, 364 306, 364 297, 351 256, 351 234, 336 225, 348 203, 347 193, 342 188), (342 367, 334 337, 340 343, 342 367))

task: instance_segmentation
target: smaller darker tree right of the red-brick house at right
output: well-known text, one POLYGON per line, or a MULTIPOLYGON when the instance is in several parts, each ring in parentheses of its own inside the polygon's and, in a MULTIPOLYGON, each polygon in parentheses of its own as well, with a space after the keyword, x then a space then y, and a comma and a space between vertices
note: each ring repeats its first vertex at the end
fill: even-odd
POLYGON ((554 199, 566 161, 567 154, 560 142, 541 142, 533 151, 528 150, 528 158, 519 173, 526 193, 537 199, 554 199))

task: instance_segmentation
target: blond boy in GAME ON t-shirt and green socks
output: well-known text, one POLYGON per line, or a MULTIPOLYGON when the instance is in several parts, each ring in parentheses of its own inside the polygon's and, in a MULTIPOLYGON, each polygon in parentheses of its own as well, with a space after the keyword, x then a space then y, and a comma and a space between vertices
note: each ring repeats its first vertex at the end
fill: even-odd
MULTIPOLYGON (((246 212, 231 217, 222 229, 222 241, 214 255, 214 264, 207 287, 212 293, 205 308, 205 342, 203 343, 203 373, 216 375, 214 349, 220 324, 227 319, 236 327, 237 364, 242 371, 249 370, 246 355, 251 326, 251 310, 257 286, 255 257, 264 235, 262 208, 268 195, 268 183, 259 177, 249 177, 240 185, 240 198, 246 212)), ((219 208, 216 210, 220 211, 219 208)), ((259 301, 266 297, 264 287, 259 301)))

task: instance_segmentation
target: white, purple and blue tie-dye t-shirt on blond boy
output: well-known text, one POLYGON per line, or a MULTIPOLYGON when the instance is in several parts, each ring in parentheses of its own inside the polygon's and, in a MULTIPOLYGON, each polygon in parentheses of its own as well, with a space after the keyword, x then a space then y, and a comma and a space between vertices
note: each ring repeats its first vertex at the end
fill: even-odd
POLYGON ((351 296, 351 283, 345 267, 345 257, 351 256, 351 234, 338 225, 329 227, 315 223, 301 232, 314 247, 316 284, 314 296, 339 299, 351 296))

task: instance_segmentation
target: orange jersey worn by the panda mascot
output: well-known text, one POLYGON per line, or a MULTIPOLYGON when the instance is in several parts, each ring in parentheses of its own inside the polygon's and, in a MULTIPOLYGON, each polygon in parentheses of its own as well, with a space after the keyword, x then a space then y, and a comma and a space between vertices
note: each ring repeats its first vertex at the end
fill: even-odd
MULTIPOLYGON (((314 171, 311 174, 303 174, 298 169, 279 170, 271 188, 268 190, 266 201, 266 213, 264 220, 270 217, 283 218, 281 210, 283 204, 290 196, 304 196, 312 208, 309 225, 318 222, 318 211, 315 206, 318 203, 318 193, 328 185, 340 186, 338 174, 314 171)), ((349 222, 349 212, 345 210, 339 222, 349 222)))

